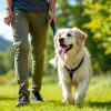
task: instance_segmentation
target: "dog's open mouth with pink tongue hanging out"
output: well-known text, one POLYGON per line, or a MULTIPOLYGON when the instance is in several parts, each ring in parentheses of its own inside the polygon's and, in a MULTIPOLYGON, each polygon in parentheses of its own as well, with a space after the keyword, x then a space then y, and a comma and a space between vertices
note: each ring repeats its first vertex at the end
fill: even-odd
POLYGON ((59 54, 67 53, 69 50, 72 49, 72 47, 73 47, 73 44, 69 44, 69 46, 60 44, 59 54))

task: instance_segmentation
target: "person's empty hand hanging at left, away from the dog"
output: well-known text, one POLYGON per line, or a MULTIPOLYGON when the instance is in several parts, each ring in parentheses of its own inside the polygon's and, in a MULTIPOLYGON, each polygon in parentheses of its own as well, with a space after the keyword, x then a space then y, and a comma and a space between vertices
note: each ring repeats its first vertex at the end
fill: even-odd
POLYGON ((12 19, 13 19, 12 10, 11 9, 6 9, 6 16, 3 18, 4 23, 10 26, 12 23, 12 19))

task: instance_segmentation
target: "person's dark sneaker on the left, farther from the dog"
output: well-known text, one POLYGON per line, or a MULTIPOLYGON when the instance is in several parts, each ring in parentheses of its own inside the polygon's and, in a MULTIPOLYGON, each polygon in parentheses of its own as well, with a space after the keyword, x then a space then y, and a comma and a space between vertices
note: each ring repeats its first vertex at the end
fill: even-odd
POLYGON ((23 107, 23 105, 27 105, 27 104, 29 104, 30 103, 30 101, 29 101, 29 95, 27 95, 27 94, 21 94, 20 97, 19 97, 19 101, 18 101, 18 103, 16 104, 16 107, 23 107))

